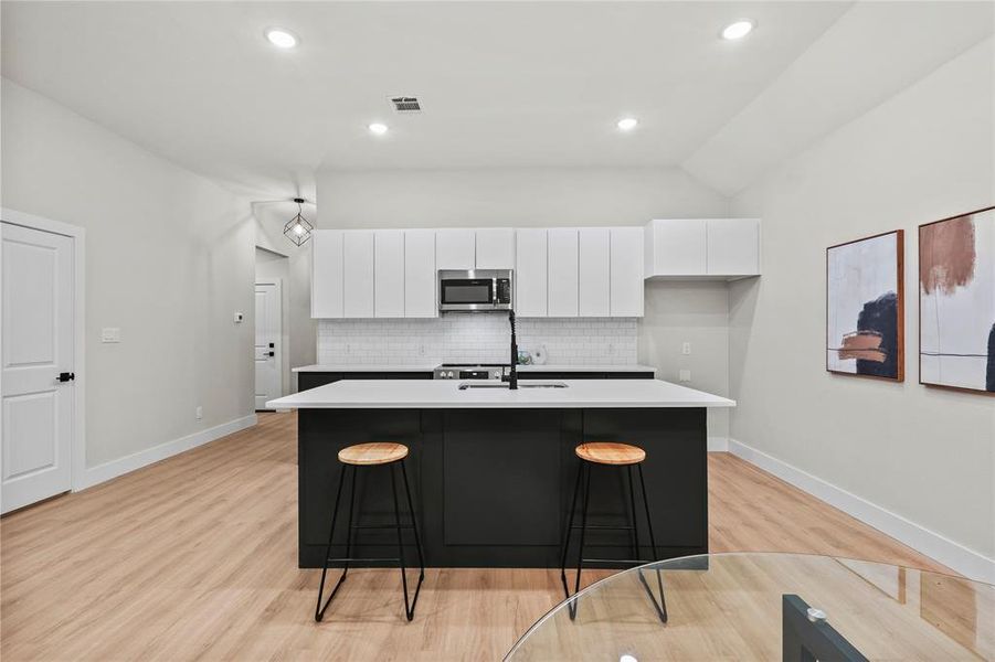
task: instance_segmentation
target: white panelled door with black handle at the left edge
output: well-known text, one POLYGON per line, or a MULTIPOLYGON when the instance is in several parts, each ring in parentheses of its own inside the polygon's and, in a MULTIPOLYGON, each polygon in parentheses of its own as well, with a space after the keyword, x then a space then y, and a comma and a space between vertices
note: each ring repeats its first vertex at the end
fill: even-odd
POLYGON ((0 501, 8 512, 72 489, 72 237, 2 223, 0 501))

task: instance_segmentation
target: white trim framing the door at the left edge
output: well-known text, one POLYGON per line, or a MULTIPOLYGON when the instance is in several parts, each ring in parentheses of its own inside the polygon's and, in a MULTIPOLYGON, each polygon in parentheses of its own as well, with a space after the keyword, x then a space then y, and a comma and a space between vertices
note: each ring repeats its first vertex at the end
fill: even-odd
MULTIPOLYGON (((85 246, 86 229, 77 225, 70 225, 61 221, 52 221, 25 214, 17 210, 0 207, 0 221, 10 223, 11 225, 21 225, 31 229, 40 229, 42 232, 51 232, 53 234, 64 235, 73 238, 73 371, 76 373, 73 387, 73 459, 72 467, 72 485, 73 491, 78 492, 86 488, 86 342, 85 342, 85 309, 84 309, 84 287, 85 277, 85 246)), ((0 271, 2 274, 2 271, 0 271)), ((0 276, 2 278, 2 276, 0 276)), ((0 282, 2 286, 2 282, 0 282)), ((2 415, 2 414, 0 414, 2 415)))

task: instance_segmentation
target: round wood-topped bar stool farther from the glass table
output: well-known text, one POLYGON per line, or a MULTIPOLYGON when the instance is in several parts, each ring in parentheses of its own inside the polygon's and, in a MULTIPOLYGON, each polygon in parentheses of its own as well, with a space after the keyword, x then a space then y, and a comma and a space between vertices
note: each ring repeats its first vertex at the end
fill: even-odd
POLYGON ((336 492, 335 505, 331 511, 331 527, 328 531, 328 546, 325 549, 325 565, 321 568, 321 584, 318 587, 318 604, 315 607, 315 620, 320 621, 325 617, 325 610, 328 609, 329 602, 335 598, 336 594, 339 590, 339 587, 342 585, 342 581, 346 580, 346 575, 349 573, 349 563, 350 562, 396 562, 401 567, 401 584, 404 588, 404 613, 407 617, 407 620, 412 620, 414 618, 414 606, 419 601, 419 591, 422 589, 422 580, 425 579, 425 558, 422 553, 422 541, 419 538, 419 526, 415 519, 414 505, 411 501, 411 489, 407 485, 407 471, 404 469, 404 458, 407 457, 407 447, 403 444, 392 444, 392 442, 373 442, 373 444, 358 444, 356 446, 349 446, 339 451, 339 462, 342 468, 339 471, 339 487, 336 492), (391 493, 394 499, 394 524, 385 524, 385 525, 353 525, 352 524, 352 515, 356 506, 356 472, 359 467, 377 467, 377 466, 387 466, 390 470, 390 481, 391 481, 391 493), (331 558, 331 543, 335 536, 335 525, 336 520, 339 514, 339 502, 342 498, 342 487, 346 482, 346 468, 352 468, 351 476, 351 490, 349 494, 349 528, 346 532, 346 556, 341 558, 331 558), (401 525, 401 509, 398 506, 398 487, 394 478, 394 473, 396 472, 396 467, 401 468, 401 478, 404 481, 404 494, 407 496, 407 513, 411 517, 411 526, 402 526, 401 525), (398 557, 396 558, 352 558, 352 532, 357 528, 396 528, 398 531, 398 557), (414 589, 414 598, 409 602, 407 597, 407 573, 404 563, 404 538, 402 536, 403 528, 411 528, 414 532, 414 545, 419 553, 419 567, 421 568, 421 573, 419 574, 419 583, 414 589), (339 577, 339 580, 336 583, 335 588, 331 589, 331 594, 328 596, 328 599, 325 601, 325 605, 321 605, 321 596, 325 592, 325 576, 328 574, 328 564, 329 563, 343 563, 342 575, 339 577))

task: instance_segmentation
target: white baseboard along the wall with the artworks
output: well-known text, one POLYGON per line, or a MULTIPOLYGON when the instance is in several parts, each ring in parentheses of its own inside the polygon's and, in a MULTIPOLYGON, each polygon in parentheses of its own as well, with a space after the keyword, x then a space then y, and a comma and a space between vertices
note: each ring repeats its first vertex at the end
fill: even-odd
POLYGON ((995 559, 993 558, 968 549, 939 533, 910 522, 901 515, 897 515, 866 499, 837 488, 742 441, 730 438, 729 451, 764 471, 773 473, 800 490, 808 492, 816 499, 821 499, 848 515, 860 520, 865 524, 869 524, 897 541, 909 545, 917 552, 925 554, 946 567, 961 573, 965 577, 995 584, 995 559))

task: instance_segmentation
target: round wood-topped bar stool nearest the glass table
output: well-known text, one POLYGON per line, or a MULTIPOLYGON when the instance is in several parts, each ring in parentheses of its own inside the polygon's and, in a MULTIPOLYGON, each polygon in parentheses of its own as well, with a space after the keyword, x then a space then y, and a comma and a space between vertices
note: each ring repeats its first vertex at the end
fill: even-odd
MULTIPOLYGON (((617 444, 613 441, 586 441, 581 444, 574 449, 574 453, 580 458, 580 467, 576 472, 576 482, 573 488, 573 499, 570 502, 570 516, 567 522, 567 532, 563 535, 563 554, 560 558, 560 580, 563 583, 563 592, 567 595, 567 599, 571 600, 570 589, 567 586, 567 554, 570 549, 570 538, 574 528, 581 530, 581 540, 578 545, 576 552, 576 579, 573 586, 573 597, 574 599, 570 601, 567 606, 568 611, 570 612, 570 619, 573 620, 576 618, 576 599, 575 596, 581 588, 581 569, 584 564, 624 564, 624 565, 644 565, 647 563, 652 563, 654 560, 659 560, 659 553, 656 548, 656 538, 653 535, 653 517, 649 514, 649 500, 646 496, 646 481, 643 479, 643 460, 646 459, 646 451, 637 446, 629 446, 628 444, 617 444), (624 467, 626 470, 626 474, 628 478, 628 503, 629 503, 629 515, 632 517, 632 525, 629 526, 589 526, 588 525, 588 503, 590 501, 591 495, 591 468, 595 465, 603 467, 624 467), (639 545, 639 528, 636 522, 636 498, 635 498, 635 489, 633 487, 633 467, 636 468, 636 472, 639 474, 639 487, 643 491, 643 508, 646 511, 646 527, 649 533, 649 546, 653 551, 652 559, 641 559, 639 554, 642 546, 639 545), (576 501, 578 495, 581 490, 581 483, 584 484, 584 505, 581 510, 581 524, 580 526, 573 525, 574 512, 576 511, 576 501), (588 528, 599 528, 599 530, 615 530, 615 531, 632 531, 633 532, 633 558, 631 559, 614 559, 614 558, 584 558, 584 537, 588 533, 588 528)), ((653 595, 653 590, 649 588, 649 584, 646 583, 646 577, 643 575, 643 570, 637 570, 639 580, 643 583, 643 586, 646 588, 646 592, 649 596, 653 606, 656 608, 657 616, 659 616, 660 621, 667 622, 667 602, 664 599, 664 580, 659 570, 656 570, 657 586, 659 588, 659 600, 653 595)))

